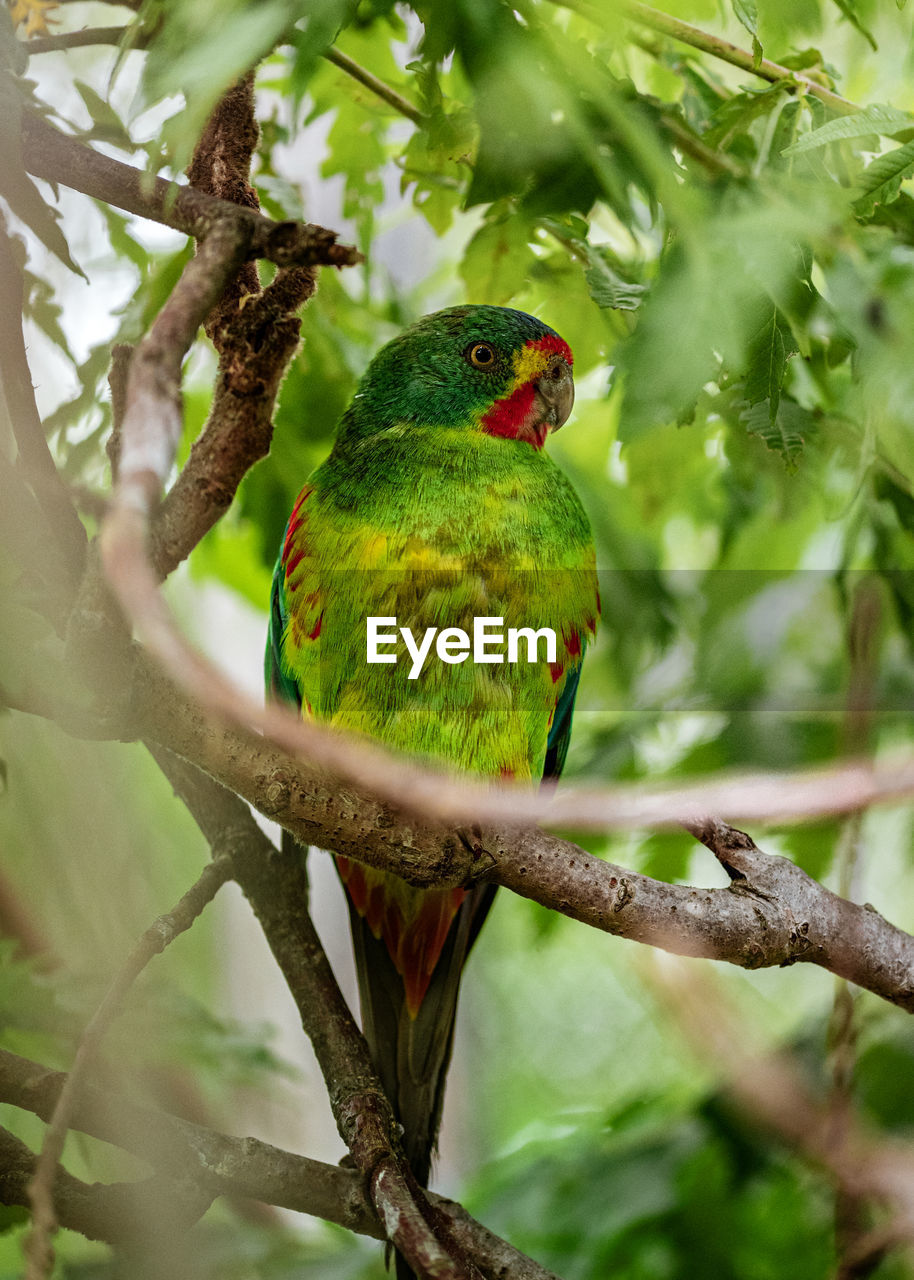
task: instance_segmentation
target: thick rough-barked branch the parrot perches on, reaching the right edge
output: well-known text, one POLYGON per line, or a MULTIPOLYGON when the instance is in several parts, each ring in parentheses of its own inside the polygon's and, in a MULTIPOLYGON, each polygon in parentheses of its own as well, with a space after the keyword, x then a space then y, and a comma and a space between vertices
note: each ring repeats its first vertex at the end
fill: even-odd
MULTIPOLYGON (((315 765, 265 749, 256 735, 207 731, 161 677, 137 687, 143 732, 193 760, 307 844, 392 870, 411 883, 454 884, 485 877, 572 919, 620 937, 742 968, 805 961, 914 1011, 914 938, 868 906, 837 897, 783 858, 763 854, 742 832, 691 819, 732 879, 700 890, 640 876, 577 845, 526 826, 458 840, 440 824, 411 819, 367 792, 341 788, 315 765)), ((741 800, 740 783, 731 783, 741 800)), ((694 795, 700 794, 700 786, 694 795)), ((750 791, 751 795, 751 791, 750 791)), ((618 788, 620 827, 653 817, 671 826, 677 791, 618 788)))

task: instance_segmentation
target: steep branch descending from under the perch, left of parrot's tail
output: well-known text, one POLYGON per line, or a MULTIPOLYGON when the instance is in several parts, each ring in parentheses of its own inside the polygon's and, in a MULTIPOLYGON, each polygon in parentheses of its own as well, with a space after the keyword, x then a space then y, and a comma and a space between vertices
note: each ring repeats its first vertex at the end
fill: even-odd
POLYGON ((451 1254, 425 1219, 424 1192, 408 1174, 390 1103, 311 923, 297 859, 279 854, 237 796, 174 756, 152 754, 210 844, 230 849, 234 878, 296 1001, 337 1128, 367 1179, 387 1239, 420 1275, 469 1280, 474 1271, 451 1254))

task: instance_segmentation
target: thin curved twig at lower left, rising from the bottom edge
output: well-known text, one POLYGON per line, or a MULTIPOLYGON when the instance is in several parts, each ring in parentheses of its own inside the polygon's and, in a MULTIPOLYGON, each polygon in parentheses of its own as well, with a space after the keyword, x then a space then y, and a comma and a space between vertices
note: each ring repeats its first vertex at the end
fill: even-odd
POLYGON ((60 1091, 45 1140, 29 1184, 32 1203, 32 1231, 26 1244, 27 1280, 44 1280, 50 1274, 54 1253, 50 1238, 56 1226, 54 1213, 54 1175, 63 1155, 69 1116, 82 1083, 86 1068, 97 1051, 102 1036, 116 1016, 120 1004, 150 960, 169 946, 180 933, 189 929, 218 890, 232 876, 232 863, 219 858, 204 868, 198 879, 175 906, 143 933, 127 959, 124 968, 111 983, 102 1002, 86 1025, 79 1041, 73 1068, 60 1091))

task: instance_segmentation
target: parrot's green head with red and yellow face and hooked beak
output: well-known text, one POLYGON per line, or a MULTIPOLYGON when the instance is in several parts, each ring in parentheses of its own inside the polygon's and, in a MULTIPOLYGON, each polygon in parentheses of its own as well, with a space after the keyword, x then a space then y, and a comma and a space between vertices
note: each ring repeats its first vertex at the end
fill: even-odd
POLYGON ((437 311, 378 352, 341 434, 361 438, 416 424, 541 449, 575 402, 571 366, 568 344, 524 311, 437 311))

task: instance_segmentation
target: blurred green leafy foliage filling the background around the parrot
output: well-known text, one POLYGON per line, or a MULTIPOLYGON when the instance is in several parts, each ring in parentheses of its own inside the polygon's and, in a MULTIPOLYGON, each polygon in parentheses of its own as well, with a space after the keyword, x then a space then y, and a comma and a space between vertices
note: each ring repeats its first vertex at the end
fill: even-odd
MULTIPOLYGON (((97 9, 61 8, 58 29, 97 9)), ((15 243, 49 440, 90 527, 108 484, 110 346, 142 337, 191 246, 104 205, 79 215, 61 202, 61 221, 23 165, 23 114, 56 116, 100 150, 174 175, 212 104, 259 61, 253 182, 265 211, 323 219, 367 255, 361 274, 321 278, 270 457, 173 585, 202 643, 257 668, 260 620, 250 653, 229 648, 250 618, 238 602, 265 613, 288 511, 371 353, 434 307, 499 303, 541 315, 575 351, 575 419, 550 449, 591 517, 604 617, 570 772, 700 778, 819 763, 851 745, 910 748, 914 92, 897 56, 910 6, 732 0, 718 27, 707 4, 675 5, 721 38, 749 37, 755 67, 764 56, 789 73, 773 83, 717 58, 713 41, 700 51, 608 3, 323 0, 303 14, 289 0, 146 0, 113 13, 128 26, 122 49, 50 54, 49 76, 44 55, 28 64, 24 31, 17 38, 0 6, 0 180, 26 242, 15 243), (77 260, 92 307, 56 265, 77 260), (229 596, 230 627, 219 622, 229 596), (849 637, 863 599, 874 604, 862 673, 849 637), (849 699, 864 677, 854 744, 849 699)), ((211 376, 201 343, 186 370, 182 457, 211 376)), ((4 465, 13 456, 4 439, 4 465)), ((14 694, 38 684, 58 637, 10 524, 0 649, 3 691, 14 694)), ((119 956, 202 855, 138 755, 116 763, 104 744, 61 746, 13 716, 0 739, 4 872, 59 961, 23 961, 4 945, 0 1036, 63 1065, 119 956), (33 776, 56 780, 52 812, 33 776)), ((823 822, 769 844, 827 878, 838 837, 823 822)), ((681 835, 585 842, 661 878, 716 874, 681 835)), ((862 850, 862 895, 910 927, 910 820, 870 815, 862 850)), ((471 1179, 471 1207, 581 1280, 832 1274, 826 1180, 696 1080, 672 1033, 645 1015, 649 997, 630 993, 631 948, 582 932, 512 902, 480 941, 470 1038, 486 1051, 472 1059, 457 1162, 489 1165, 471 1179)), ((114 1052, 155 1078, 159 1096, 169 1073, 192 1078, 218 1114, 255 1088, 294 1088, 260 1023, 206 1012, 220 993, 228 1004, 224 936, 210 922, 182 946, 114 1052)), ((822 1073, 831 987, 801 969, 731 980, 769 1039, 799 1046, 822 1073)), ((863 1015, 860 1106, 908 1132, 905 1015, 877 1015, 872 1002, 863 1015)), ((27 1123, 23 1133, 35 1140, 27 1123)), ((77 1158, 95 1175, 97 1151, 77 1158)), ((0 1231, 0 1272, 13 1274, 15 1213, 0 1231)), ((379 1274, 374 1252, 335 1233, 303 1249, 219 1210, 196 1239, 200 1275, 379 1274)), ((76 1238, 61 1254, 68 1275, 111 1274, 76 1238)), ((899 1270, 890 1258, 876 1274, 899 1270)))

